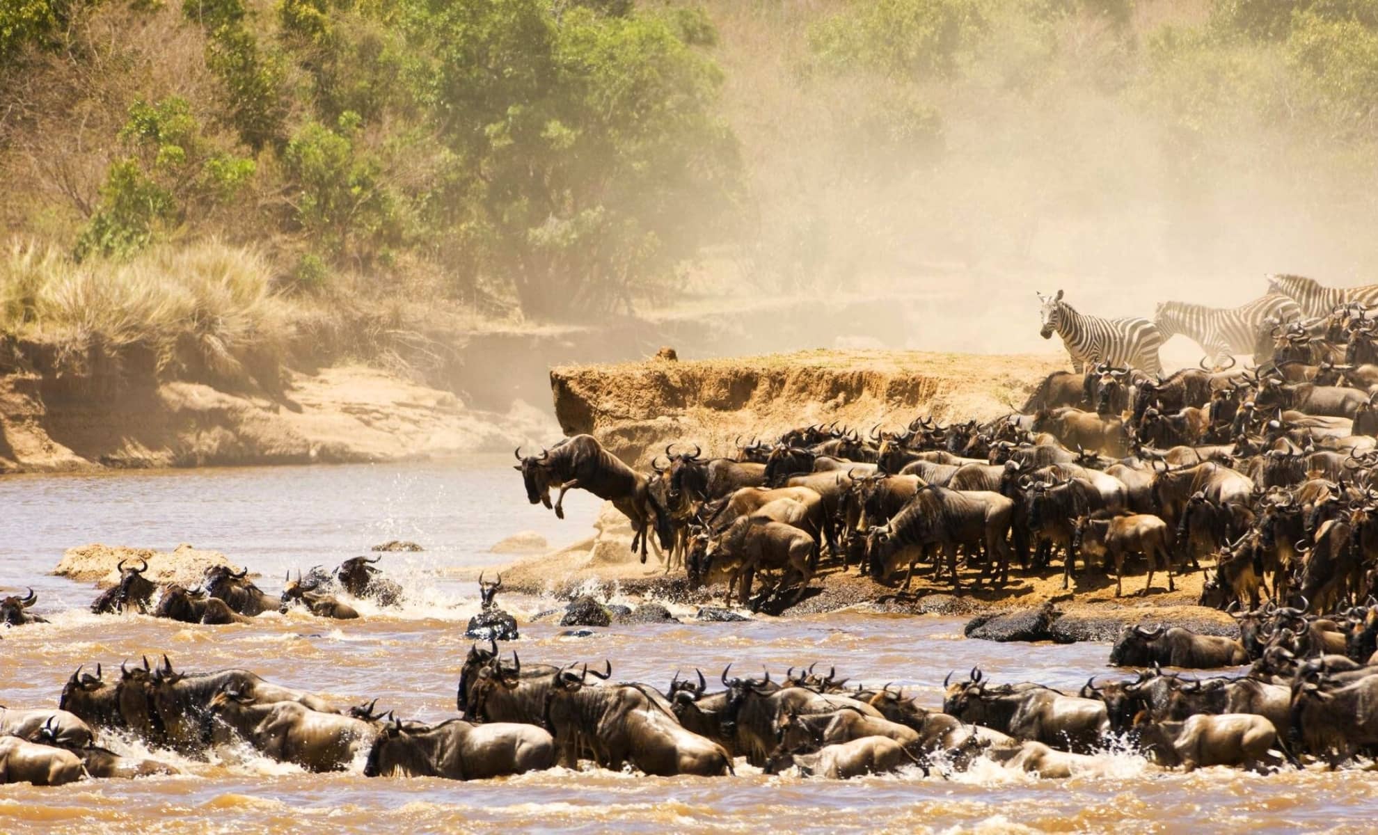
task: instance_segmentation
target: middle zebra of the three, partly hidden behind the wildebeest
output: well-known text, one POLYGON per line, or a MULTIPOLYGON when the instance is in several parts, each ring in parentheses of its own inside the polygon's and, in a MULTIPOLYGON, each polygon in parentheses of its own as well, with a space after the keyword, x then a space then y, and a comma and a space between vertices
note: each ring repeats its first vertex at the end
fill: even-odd
POLYGON ((1266 362, 1273 355, 1272 329, 1301 318, 1301 307, 1283 293, 1268 293, 1239 307, 1163 302, 1153 311, 1163 339, 1188 336, 1217 362, 1229 354, 1250 354, 1255 362, 1266 362))

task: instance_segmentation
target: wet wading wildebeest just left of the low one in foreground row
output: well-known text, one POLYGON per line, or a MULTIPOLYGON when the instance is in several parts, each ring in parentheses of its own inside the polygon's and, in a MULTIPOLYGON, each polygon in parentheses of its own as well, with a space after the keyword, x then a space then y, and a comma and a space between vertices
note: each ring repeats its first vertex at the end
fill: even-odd
MULTIPOLYGON (((220 722, 265 756, 310 772, 339 772, 373 743, 371 722, 313 711, 298 701, 259 704, 225 685, 207 705, 208 722, 220 722)), ((212 737, 214 739, 214 737, 212 737)))

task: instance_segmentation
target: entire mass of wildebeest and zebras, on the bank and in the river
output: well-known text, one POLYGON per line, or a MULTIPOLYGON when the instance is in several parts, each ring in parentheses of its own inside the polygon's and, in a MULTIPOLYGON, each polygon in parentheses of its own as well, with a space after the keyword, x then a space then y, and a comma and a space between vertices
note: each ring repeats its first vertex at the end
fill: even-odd
MULTIPOLYGON (((904 587, 925 562, 954 588, 962 569, 977 586, 1002 587, 1011 562, 1042 572, 1057 559, 1071 587, 1080 558, 1083 570, 1113 569, 1116 594, 1135 559, 1148 572, 1145 594, 1155 572, 1171 590, 1174 575, 1203 570, 1204 561, 1200 604, 1228 610, 1237 639, 1131 626, 1109 660, 1141 668, 1133 678, 1093 677, 1072 694, 991 683, 973 668, 944 681, 941 708, 890 685, 849 686, 817 666, 779 678, 732 675, 729 666, 721 689, 697 670, 675 672, 664 690, 613 683, 610 664, 522 664, 492 641, 464 660, 459 717, 435 725, 247 670, 175 670, 164 656, 120 664, 117 675, 102 664, 79 668, 59 710, 0 710, 0 783, 175 770, 101 748, 103 734, 192 759, 248 743, 309 770, 459 780, 580 761, 722 776, 737 758, 827 777, 947 774, 978 759, 1065 777, 1089 767, 1091 752, 1120 745, 1188 770, 1371 756, 1378 320, 1367 318, 1367 305, 1378 298, 1313 284, 1277 277, 1272 295, 1225 311, 1170 303, 1156 324, 1084 317, 1061 292, 1045 298, 1043 332, 1064 336, 1076 371, 1050 375, 1022 408, 984 423, 812 424, 772 441, 739 438, 728 457, 671 444, 644 473, 591 435, 517 452, 532 504, 562 515, 566 491, 593 492, 631 519, 642 561, 659 544, 667 570, 682 569, 695 587, 723 580, 743 605, 798 601, 824 557, 889 583, 903 572, 904 587), (1180 332, 1207 358, 1164 376, 1158 346, 1180 332), (1235 353, 1255 365, 1224 358, 1235 353), (765 588, 754 597, 757 577, 765 588), (1214 678, 1164 671, 1246 664, 1214 678)), ((121 564, 119 584, 92 610, 236 623, 299 605, 350 619, 357 612, 338 591, 383 606, 402 597, 365 558, 288 575, 278 597, 225 566, 196 588, 169 584, 161 594, 145 572, 121 564)), ((485 637, 515 637, 493 601, 500 581, 481 581, 484 615, 471 627, 491 630, 485 637)), ((0 620, 41 621, 29 612, 34 601, 32 591, 0 599, 0 620)))

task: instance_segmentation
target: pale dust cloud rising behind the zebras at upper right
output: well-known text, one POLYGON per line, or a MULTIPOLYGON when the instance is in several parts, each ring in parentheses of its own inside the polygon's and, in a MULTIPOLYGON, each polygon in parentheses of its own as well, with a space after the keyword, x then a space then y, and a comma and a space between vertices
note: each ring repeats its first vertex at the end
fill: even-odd
MULTIPOLYGON (((706 285, 898 295, 912 307, 896 320, 883 302, 852 344, 1006 353, 1062 350, 1038 336, 1035 291, 1152 317, 1169 299, 1246 302, 1266 273, 1378 274, 1372 163, 1308 102, 1272 110, 1312 90, 1286 45, 1169 59, 1164 28, 1204 32, 1211 3, 1140 0, 1120 25, 1071 6, 1038 25, 989 12, 956 72, 915 80, 819 69, 810 26, 854 4, 710 3, 748 223, 743 255, 703 265, 706 285), (1254 77, 1217 77, 1235 68, 1254 77), (896 139, 914 109, 938 116, 937 138, 896 139)), ((799 347, 792 322, 758 321, 777 324, 780 347, 799 347)), ((1164 349, 1169 365, 1199 355, 1184 338, 1164 349)))

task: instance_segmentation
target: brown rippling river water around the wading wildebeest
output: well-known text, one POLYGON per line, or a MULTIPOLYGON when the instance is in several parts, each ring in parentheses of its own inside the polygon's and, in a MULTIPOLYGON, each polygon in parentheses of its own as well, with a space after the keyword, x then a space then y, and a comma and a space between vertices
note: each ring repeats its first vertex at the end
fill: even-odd
MULTIPOLYGON (((502 562, 489 546, 537 530, 553 547, 590 532, 597 503, 570 493, 566 519, 525 502, 521 480, 497 459, 466 464, 282 467, 0 480, 0 584, 33 586, 47 626, 0 639, 0 703, 55 707, 79 664, 117 668, 167 653, 176 668, 247 667, 332 699, 371 700, 398 715, 442 719, 478 610, 473 581, 453 570, 502 562), (88 542, 225 551, 262 572, 274 592, 288 568, 335 565, 376 542, 412 539, 422 554, 387 555, 408 590, 398 612, 361 605, 364 619, 332 623, 266 615, 252 624, 186 626, 145 616, 88 615, 96 591, 52 577, 63 548, 88 542)), ((616 599, 616 598, 615 598, 616 599)), ((500 597, 524 620, 554 599, 500 597)), ((679 615, 692 609, 670 606, 679 615)), ((699 666, 710 681, 733 661, 750 672, 821 660, 853 682, 905 685, 941 701, 949 670, 980 664, 994 681, 1076 689, 1105 667, 1108 645, 996 645, 966 641, 962 621, 834 613, 752 623, 615 626, 590 638, 522 624, 524 661, 610 659, 613 678, 664 688, 699 666)), ((766 776, 737 763, 736 777, 660 779, 584 770, 455 783, 310 774, 248 748, 209 763, 105 736, 121 752, 169 759, 175 777, 83 781, 59 788, 0 785, 0 832, 463 832, 904 831, 904 832, 1374 832, 1378 776, 1363 770, 1229 769, 1173 773, 1113 747, 1071 780, 1039 780, 977 763, 947 777, 898 773, 852 781, 766 776)))

